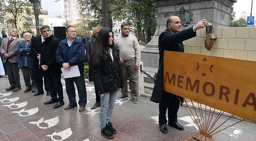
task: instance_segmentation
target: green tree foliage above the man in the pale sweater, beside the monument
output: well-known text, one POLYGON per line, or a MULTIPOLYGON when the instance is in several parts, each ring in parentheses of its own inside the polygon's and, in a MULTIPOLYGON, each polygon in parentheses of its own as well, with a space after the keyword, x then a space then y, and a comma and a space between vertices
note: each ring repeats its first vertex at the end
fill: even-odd
MULTIPOLYGON (((101 10, 102 0, 78 0, 81 11, 93 12, 93 21, 89 30, 103 25, 101 10)), ((149 42, 157 26, 157 6, 151 0, 107 0, 108 22, 112 29, 114 22, 128 22, 134 27, 135 35, 142 41, 149 42)))

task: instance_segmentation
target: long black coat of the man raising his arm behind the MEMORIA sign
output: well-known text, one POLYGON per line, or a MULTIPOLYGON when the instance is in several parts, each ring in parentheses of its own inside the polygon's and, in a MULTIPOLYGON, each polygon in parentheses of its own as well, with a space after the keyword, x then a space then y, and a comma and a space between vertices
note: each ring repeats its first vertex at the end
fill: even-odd
MULTIPOLYGON (((163 91, 163 52, 164 50, 184 52, 185 41, 189 38, 197 36, 196 32, 193 31, 193 27, 189 27, 177 33, 172 33, 169 29, 166 29, 159 35, 158 39, 158 49, 159 49, 159 68, 157 71, 157 80, 152 92, 151 101, 159 103, 162 100, 163 91)), ((174 66, 175 67, 175 66, 174 66)), ((170 93, 172 94, 172 93, 170 93)), ((183 98, 180 97, 183 101, 183 98)))

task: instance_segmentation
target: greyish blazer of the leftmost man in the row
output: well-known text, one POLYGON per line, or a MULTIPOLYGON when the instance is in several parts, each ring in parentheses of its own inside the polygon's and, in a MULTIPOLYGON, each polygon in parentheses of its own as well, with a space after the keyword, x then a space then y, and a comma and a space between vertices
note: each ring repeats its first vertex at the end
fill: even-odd
MULTIPOLYGON (((8 61, 10 63, 18 63, 19 55, 16 54, 16 47, 17 47, 17 44, 21 41, 21 39, 16 37, 10 44, 8 52, 7 52, 8 41, 9 41, 9 38, 3 38, 3 42, 0 46, 0 53, 1 54, 8 53, 10 55, 10 57, 7 58, 8 61)), ((3 57, 3 63, 5 63, 7 61, 7 59, 5 57, 3 57)))

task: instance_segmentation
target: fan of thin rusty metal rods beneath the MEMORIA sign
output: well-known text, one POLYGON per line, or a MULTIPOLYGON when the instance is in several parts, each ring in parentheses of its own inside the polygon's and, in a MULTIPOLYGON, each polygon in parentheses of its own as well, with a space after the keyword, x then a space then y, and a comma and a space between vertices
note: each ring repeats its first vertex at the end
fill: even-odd
POLYGON ((195 103, 194 104, 192 100, 190 100, 190 101, 192 103, 193 109, 189 108, 189 106, 186 102, 186 99, 184 99, 184 102, 186 103, 187 107, 184 106, 183 103, 182 103, 182 105, 185 108, 186 112, 191 117, 191 119, 193 119, 194 123, 197 125, 199 132, 194 132, 194 133, 191 133, 191 135, 189 135, 189 136, 184 136, 180 139, 180 141, 190 141, 190 140, 215 141, 215 139, 212 137, 213 135, 215 135, 216 133, 219 133, 222 130, 227 129, 230 126, 236 125, 239 122, 244 120, 244 119, 241 119, 238 122, 236 122, 232 125, 229 125, 225 128, 222 128, 220 130, 222 125, 225 124, 230 118, 232 118, 233 115, 228 117, 228 119, 225 120, 224 122, 218 123, 219 119, 221 118, 222 114, 224 113, 223 111, 220 111, 219 114, 217 115, 217 117, 214 118, 213 114, 215 112, 215 108, 212 108, 212 107, 209 107, 206 105, 202 105, 201 103, 197 103, 199 111, 196 111, 196 108, 195 108, 196 103, 194 102, 195 103), (207 108, 209 108, 209 111, 206 110, 207 108), (197 119, 195 117, 197 117, 197 119), (220 125, 218 125, 217 123, 220 125))

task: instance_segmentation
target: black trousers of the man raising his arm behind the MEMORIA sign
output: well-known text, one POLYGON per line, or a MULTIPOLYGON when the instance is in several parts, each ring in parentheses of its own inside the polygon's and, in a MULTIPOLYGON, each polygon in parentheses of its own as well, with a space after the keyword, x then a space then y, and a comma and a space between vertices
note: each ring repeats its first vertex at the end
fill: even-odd
POLYGON ((177 112, 180 106, 180 100, 176 95, 164 92, 162 94, 162 101, 159 103, 159 125, 167 123, 166 110, 168 108, 168 122, 173 124, 177 122, 177 112))

